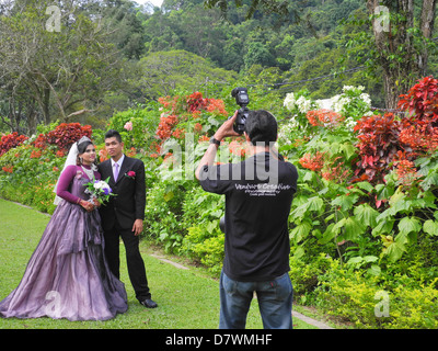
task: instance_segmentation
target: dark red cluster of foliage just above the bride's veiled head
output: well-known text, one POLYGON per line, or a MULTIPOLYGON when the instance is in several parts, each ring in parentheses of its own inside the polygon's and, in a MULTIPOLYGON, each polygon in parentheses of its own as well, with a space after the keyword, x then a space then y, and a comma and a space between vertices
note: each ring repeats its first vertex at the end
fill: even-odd
POLYGON ((81 137, 88 136, 91 138, 92 133, 93 131, 91 129, 91 125, 81 126, 80 123, 61 123, 46 135, 39 134, 34 141, 34 145, 43 149, 47 144, 56 145, 59 149, 66 151, 81 137))

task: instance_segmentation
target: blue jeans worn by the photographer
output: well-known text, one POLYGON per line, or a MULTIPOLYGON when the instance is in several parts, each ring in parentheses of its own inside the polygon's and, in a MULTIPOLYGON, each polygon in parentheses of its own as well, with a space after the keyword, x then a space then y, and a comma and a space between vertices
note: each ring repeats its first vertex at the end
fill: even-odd
POLYGON ((292 283, 288 273, 266 282, 238 282, 220 274, 219 329, 244 329, 254 292, 265 329, 292 329, 292 283))

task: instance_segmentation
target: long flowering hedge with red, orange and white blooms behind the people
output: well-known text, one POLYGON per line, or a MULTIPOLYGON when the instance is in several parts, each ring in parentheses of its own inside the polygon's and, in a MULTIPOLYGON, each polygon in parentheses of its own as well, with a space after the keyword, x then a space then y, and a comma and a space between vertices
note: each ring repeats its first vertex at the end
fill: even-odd
MULTIPOLYGON (((344 98, 353 92, 356 95, 348 101, 337 99, 330 112, 306 93, 285 99, 283 110, 290 107, 292 118, 280 124, 278 144, 280 154, 299 171, 289 237, 291 279, 299 286, 296 299, 300 303, 316 303, 357 327, 436 328, 435 86, 433 78, 422 80, 402 98, 406 100, 403 109, 413 106, 411 115, 403 118, 367 115, 369 103, 365 95, 360 98, 360 89, 345 88, 344 98), (360 99, 364 104, 358 103, 360 99), (388 320, 373 314, 374 294, 381 290, 391 294, 388 320), (423 294, 430 303, 422 302, 423 294), (427 318, 422 319, 420 314, 427 318)), ((195 145, 193 159, 182 161, 195 163, 226 115, 221 100, 204 99, 196 92, 118 112, 107 126, 123 133, 127 155, 145 161, 148 240, 169 252, 187 254, 215 274, 220 273, 223 258, 223 234, 219 230, 223 196, 206 193, 195 180, 176 179, 171 171, 165 179, 159 174, 161 167, 176 158, 164 143, 184 148, 192 133, 195 144, 200 144, 195 145)), ((55 126, 43 134, 51 129, 55 126)), ((223 143, 228 160, 244 155, 240 141, 223 143)), ((44 145, 20 145, 0 157, 1 196, 42 211, 53 210, 53 188, 66 152, 56 143, 44 145)), ((97 150, 101 161, 107 158, 102 145, 97 150)), ((187 163, 181 166, 187 169, 187 163)))

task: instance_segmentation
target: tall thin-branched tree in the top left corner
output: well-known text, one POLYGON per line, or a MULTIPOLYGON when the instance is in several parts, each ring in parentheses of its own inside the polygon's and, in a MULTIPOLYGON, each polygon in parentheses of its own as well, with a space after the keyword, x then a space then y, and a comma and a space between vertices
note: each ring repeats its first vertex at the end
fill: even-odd
POLYGON ((111 29, 85 15, 85 5, 16 0, 0 13, 0 81, 14 98, 10 103, 36 101, 45 123, 51 111, 61 121, 91 112, 119 83, 120 60, 106 39, 111 29))

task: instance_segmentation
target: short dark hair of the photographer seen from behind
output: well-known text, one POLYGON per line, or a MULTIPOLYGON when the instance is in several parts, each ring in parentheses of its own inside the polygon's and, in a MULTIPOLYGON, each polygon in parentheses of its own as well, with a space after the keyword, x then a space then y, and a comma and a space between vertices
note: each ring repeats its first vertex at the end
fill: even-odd
POLYGON ((277 121, 265 110, 251 110, 245 122, 245 132, 253 145, 264 143, 269 146, 269 143, 277 140, 277 121))

